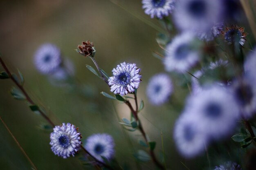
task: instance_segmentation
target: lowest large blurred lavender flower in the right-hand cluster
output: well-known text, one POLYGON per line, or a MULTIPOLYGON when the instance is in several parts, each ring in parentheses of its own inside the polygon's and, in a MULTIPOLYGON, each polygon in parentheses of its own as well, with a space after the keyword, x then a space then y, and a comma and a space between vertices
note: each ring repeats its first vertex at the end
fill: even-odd
POLYGON ((179 152, 186 158, 199 155, 208 146, 208 137, 198 124, 198 116, 185 111, 175 122, 173 138, 179 152))

